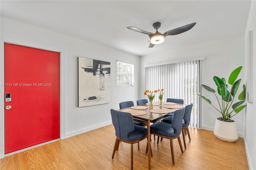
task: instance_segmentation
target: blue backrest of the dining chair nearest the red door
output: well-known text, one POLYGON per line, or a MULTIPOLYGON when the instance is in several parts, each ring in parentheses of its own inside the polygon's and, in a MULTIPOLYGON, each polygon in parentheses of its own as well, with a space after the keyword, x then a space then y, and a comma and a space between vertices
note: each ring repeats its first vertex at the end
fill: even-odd
POLYGON ((110 110, 112 123, 116 130, 116 137, 122 140, 128 140, 129 133, 134 130, 132 114, 127 112, 110 110))

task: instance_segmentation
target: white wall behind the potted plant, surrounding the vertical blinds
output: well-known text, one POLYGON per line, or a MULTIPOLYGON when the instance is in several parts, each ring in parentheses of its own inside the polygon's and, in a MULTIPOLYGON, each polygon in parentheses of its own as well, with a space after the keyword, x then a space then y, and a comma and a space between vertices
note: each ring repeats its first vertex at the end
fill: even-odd
MULTIPOLYGON (((145 89, 144 65, 176 61, 177 59, 189 60, 196 57, 205 58, 202 61, 202 84, 215 88, 216 85, 213 81, 214 75, 218 77, 226 77, 226 79, 228 79, 231 71, 240 65, 244 66, 244 36, 236 36, 214 42, 191 45, 141 57, 140 91, 145 89)), ((244 84, 244 68, 240 73, 240 78, 242 78, 242 83, 244 84)), ((240 90, 242 91, 242 88, 240 90)), ((143 94, 139 95, 140 97, 143 96, 143 94)), ((202 95, 208 97, 212 102, 216 101, 216 98, 204 89, 202 90, 202 95)), ((215 119, 218 117, 221 117, 220 113, 217 113, 212 106, 203 101, 202 128, 213 131, 215 119)), ((241 111, 238 115, 234 116, 233 120, 236 121, 239 136, 242 137, 244 132, 244 111, 241 111)))

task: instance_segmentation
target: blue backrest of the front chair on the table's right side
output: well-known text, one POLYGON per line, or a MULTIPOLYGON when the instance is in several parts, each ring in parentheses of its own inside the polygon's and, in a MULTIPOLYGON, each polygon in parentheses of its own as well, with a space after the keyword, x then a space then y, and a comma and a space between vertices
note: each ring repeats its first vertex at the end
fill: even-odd
POLYGON ((185 113, 185 107, 174 111, 172 117, 172 128, 174 129, 174 133, 178 136, 181 133, 182 128, 182 120, 185 113))

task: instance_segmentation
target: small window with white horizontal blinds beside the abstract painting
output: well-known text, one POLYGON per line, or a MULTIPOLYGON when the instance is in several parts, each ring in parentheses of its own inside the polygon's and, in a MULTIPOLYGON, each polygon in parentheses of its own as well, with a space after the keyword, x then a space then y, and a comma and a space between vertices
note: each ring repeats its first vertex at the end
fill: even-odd
POLYGON ((134 65, 116 62, 116 85, 133 86, 134 82, 134 65))

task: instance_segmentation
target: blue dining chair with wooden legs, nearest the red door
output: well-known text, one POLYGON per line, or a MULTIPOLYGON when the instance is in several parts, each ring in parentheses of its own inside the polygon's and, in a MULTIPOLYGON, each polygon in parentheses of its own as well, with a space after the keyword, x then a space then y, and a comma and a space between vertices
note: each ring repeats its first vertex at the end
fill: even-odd
POLYGON ((131 169, 133 169, 133 144, 148 137, 148 129, 133 124, 132 115, 127 112, 110 110, 112 123, 116 131, 116 142, 112 154, 114 158, 120 141, 131 144, 131 169))

